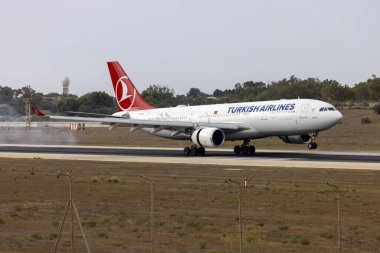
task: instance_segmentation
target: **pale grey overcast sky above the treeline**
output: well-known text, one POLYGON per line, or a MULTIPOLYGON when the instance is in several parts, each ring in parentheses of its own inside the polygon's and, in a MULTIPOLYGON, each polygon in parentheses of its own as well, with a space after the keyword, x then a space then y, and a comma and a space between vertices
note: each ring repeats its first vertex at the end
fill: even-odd
POLYGON ((295 75, 380 76, 377 0, 0 0, 0 85, 106 91, 107 61, 138 90, 212 93, 295 75))

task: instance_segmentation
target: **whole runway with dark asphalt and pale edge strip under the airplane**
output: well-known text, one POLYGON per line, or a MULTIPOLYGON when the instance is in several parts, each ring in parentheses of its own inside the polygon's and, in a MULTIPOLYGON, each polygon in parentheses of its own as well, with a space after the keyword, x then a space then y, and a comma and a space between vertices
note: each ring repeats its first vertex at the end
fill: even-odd
POLYGON ((203 157, 185 157, 178 148, 1 144, 0 157, 380 170, 379 153, 315 150, 257 150, 254 156, 237 156, 230 149, 208 149, 203 157))

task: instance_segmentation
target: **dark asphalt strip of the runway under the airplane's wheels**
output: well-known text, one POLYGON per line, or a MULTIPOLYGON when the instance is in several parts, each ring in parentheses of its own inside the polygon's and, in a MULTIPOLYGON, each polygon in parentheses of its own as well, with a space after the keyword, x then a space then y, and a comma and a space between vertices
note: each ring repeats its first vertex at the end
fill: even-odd
MULTIPOLYGON (((184 157, 181 149, 173 148, 138 148, 138 147, 99 147, 99 146, 58 146, 58 145, 0 145, 3 153, 41 153, 41 154, 76 154, 105 155, 133 157, 184 157)), ((205 158, 237 158, 244 160, 287 160, 287 161, 318 161, 318 162, 360 162, 375 163, 380 167, 380 153, 358 152, 319 152, 319 151, 268 151, 258 150, 255 155, 237 156, 232 150, 206 151, 205 158)))

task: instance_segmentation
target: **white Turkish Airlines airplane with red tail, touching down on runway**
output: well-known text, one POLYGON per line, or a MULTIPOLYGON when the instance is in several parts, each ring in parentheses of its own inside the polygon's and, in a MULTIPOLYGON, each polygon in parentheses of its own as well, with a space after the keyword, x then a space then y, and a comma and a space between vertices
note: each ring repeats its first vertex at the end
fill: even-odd
POLYGON ((38 116, 55 120, 100 122, 109 129, 130 126, 131 131, 174 140, 190 140, 186 156, 203 156, 205 148, 215 148, 225 141, 241 140, 234 147, 239 155, 253 155, 251 140, 278 136, 285 143, 307 144, 316 149, 315 138, 342 120, 331 104, 315 99, 280 99, 273 101, 154 108, 140 95, 119 62, 107 62, 119 111, 112 115, 74 112, 78 116, 38 116), (82 116, 80 116, 82 115, 82 116), (96 117, 95 117, 96 116, 96 117))

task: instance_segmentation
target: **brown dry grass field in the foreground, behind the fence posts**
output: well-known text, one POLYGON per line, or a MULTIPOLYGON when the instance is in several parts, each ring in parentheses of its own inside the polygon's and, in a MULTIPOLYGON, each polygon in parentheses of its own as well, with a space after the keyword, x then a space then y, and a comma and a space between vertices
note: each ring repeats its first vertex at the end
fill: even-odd
MULTIPOLYGON (((380 248, 380 172, 229 169, 0 159, 0 252, 51 252, 68 198, 57 170, 72 171, 93 252, 148 252, 150 188, 140 175, 156 180, 156 252, 238 252, 237 189, 228 178, 252 178, 242 189, 245 252, 337 252, 336 195, 327 181, 344 193, 343 252, 380 248)), ((75 233, 76 249, 84 252, 77 225, 75 233)), ((70 249, 69 238, 67 223, 61 251, 70 249)))

